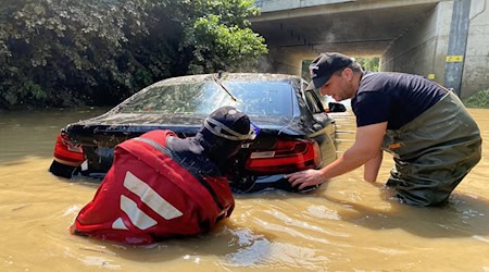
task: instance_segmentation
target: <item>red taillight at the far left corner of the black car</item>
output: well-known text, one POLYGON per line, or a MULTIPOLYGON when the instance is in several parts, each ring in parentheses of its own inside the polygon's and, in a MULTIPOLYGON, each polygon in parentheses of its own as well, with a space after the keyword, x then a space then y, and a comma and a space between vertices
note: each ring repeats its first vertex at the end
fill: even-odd
POLYGON ((78 166, 84 162, 82 145, 74 145, 63 133, 58 134, 54 146, 54 159, 68 165, 78 166))

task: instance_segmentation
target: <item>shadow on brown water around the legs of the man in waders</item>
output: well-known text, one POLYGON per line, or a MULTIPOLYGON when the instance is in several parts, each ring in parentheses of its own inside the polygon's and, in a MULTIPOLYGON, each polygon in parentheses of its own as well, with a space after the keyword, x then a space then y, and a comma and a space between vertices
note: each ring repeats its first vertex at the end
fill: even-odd
MULTIPOLYGON (((386 190, 381 194, 386 195, 386 190)), ((347 208, 338 211, 341 220, 376 231, 400 228, 428 238, 489 235, 489 201, 475 195, 454 191, 443 206, 427 208, 403 205, 392 196, 384 196, 390 205, 387 209, 323 197, 347 208)))

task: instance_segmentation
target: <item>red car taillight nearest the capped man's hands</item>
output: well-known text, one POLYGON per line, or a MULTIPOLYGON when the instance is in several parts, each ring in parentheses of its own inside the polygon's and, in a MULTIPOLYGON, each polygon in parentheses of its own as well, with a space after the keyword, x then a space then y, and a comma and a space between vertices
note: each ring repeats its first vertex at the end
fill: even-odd
POLYGON ((271 150, 251 152, 244 168, 259 174, 277 174, 316 168, 319 163, 319 145, 315 140, 278 140, 271 150))

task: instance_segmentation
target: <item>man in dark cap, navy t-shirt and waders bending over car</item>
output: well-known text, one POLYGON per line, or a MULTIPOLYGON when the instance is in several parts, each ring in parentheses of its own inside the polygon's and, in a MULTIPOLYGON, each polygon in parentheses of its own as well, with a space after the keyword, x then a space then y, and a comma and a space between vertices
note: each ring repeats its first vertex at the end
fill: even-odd
POLYGON ((310 72, 308 89, 337 101, 352 99, 356 138, 331 164, 287 175, 292 186, 322 184, 361 165, 364 180, 375 182, 385 150, 396 163, 387 185, 401 202, 434 206, 443 203, 480 160, 477 124, 442 86, 417 75, 363 72, 340 53, 319 54, 310 72))

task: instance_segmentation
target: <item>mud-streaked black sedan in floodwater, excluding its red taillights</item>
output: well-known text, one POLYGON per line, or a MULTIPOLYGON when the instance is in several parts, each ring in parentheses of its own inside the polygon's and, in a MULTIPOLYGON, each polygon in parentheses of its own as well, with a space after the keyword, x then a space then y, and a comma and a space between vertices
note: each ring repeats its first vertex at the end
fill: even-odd
MULTIPOLYGON (((206 111, 204 110, 203 112, 164 112, 167 108, 155 110, 155 108, 160 106, 154 103, 154 107, 152 108, 148 107, 146 109, 146 106, 142 106, 142 108, 139 107, 141 109, 137 108, 138 112, 127 112, 127 110, 124 110, 125 106, 140 99, 140 94, 151 91, 151 89, 154 89, 155 87, 208 83, 215 81, 215 74, 212 74, 164 79, 142 89, 135 96, 122 102, 120 106, 116 106, 100 116, 68 124, 62 132, 67 135, 68 139, 74 145, 83 146, 86 157, 86 161, 76 170, 76 172, 98 178, 103 177, 104 173, 106 173, 112 164, 113 148, 117 144, 133 137, 137 137, 152 129, 171 129, 179 137, 192 136, 202 125, 202 121, 205 119, 208 112, 213 110, 211 108, 224 106, 222 103, 235 103, 238 106, 237 108, 241 107, 241 110, 249 114, 251 121, 260 127, 260 134, 256 139, 242 145, 238 156, 229 162, 229 183, 236 190, 255 191, 267 187, 294 190, 294 188, 291 188, 289 183, 284 180, 285 173, 261 175, 244 169, 244 162, 252 151, 266 150, 273 146, 278 138, 314 139, 318 143, 321 149, 322 160, 318 165, 319 168, 327 165, 336 159, 336 148, 334 143, 335 122, 328 114, 326 114, 317 96, 312 91, 304 91, 306 83, 297 76, 247 73, 225 74, 218 78, 223 85, 233 86, 233 82, 240 82, 243 86, 246 86, 247 83, 253 83, 254 85, 252 88, 258 89, 256 91, 259 92, 254 94, 251 98, 247 98, 247 95, 242 95, 244 91, 236 91, 236 88, 230 88, 229 91, 237 92, 238 99, 242 101, 233 101, 233 97, 227 98, 227 95, 220 95, 220 99, 223 100, 223 102, 211 104, 211 108, 206 109, 206 111), (269 90, 266 90, 265 88, 268 86, 265 83, 272 83, 268 84, 272 86, 271 88, 287 84, 290 86, 290 94, 268 94, 268 99, 271 100, 269 104, 268 101, 265 101, 266 107, 262 107, 263 109, 260 109, 260 107, 251 109, 250 107, 253 104, 251 102, 248 103, 248 101, 253 99, 267 99, 268 95, 262 95, 260 90, 260 86, 263 85, 263 92, 269 92, 269 90), (224 98, 222 96, 224 96, 224 98), (287 106, 284 107, 276 104, 276 100, 281 99, 280 96, 290 96, 290 98, 286 97, 284 99, 284 101, 288 101, 290 99, 290 109, 286 108, 287 106), (272 111, 272 106, 278 107, 278 110, 274 109, 274 111, 272 111), (250 108, 248 112, 246 110, 247 108, 250 108), (152 112, 152 110, 154 110, 154 112, 152 112)), ((141 99, 151 99, 152 97, 153 96, 150 96, 149 98, 142 97, 141 99)), ((187 99, 193 98, 187 97, 187 99)), ((202 98, 201 102, 202 101, 208 102, 205 97, 202 98)), ((185 107, 187 106, 184 106, 184 108, 185 107)), ((129 107, 129 109, 135 108, 129 107)), ((180 108, 176 109, 178 110, 180 108)))

